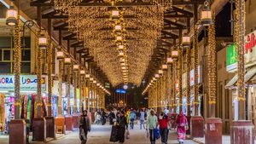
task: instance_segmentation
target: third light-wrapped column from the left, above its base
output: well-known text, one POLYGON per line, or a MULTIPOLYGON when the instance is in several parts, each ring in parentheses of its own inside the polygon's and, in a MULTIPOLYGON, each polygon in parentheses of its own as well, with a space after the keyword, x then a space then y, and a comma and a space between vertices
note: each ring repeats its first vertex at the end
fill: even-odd
POLYGON ((53 84, 53 78, 52 78, 52 53, 53 53, 53 43, 50 41, 50 38, 48 38, 47 43, 47 76, 48 76, 48 116, 51 116, 51 96, 52 96, 52 84, 53 84))

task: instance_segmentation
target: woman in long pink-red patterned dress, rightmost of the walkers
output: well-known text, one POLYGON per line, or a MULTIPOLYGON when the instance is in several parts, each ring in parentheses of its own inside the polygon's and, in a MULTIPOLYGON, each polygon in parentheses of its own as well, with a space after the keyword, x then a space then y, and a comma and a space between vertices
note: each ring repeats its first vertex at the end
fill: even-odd
POLYGON ((188 120, 182 111, 179 113, 179 115, 177 115, 176 124, 177 124, 177 141, 179 143, 183 143, 184 140, 186 139, 186 130, 188 129, 188 120))

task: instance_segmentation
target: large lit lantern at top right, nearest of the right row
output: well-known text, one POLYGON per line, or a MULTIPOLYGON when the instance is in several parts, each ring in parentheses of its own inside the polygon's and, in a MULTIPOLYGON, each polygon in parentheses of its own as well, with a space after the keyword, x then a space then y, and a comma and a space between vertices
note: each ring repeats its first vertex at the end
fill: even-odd
POLYGON ((212 25, 212 11, 210 9, 210 3, 208 0, 204 3, 203 9, 201 10, 201 25, 212 25))

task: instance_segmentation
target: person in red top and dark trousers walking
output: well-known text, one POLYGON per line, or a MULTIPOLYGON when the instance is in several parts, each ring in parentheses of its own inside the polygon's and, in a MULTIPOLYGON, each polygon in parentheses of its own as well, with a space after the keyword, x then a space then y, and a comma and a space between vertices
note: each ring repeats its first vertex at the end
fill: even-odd
POLYGON ((166 113, 160 112, 158 123, 160 125, 160 135, 162 144, 167 144, 169 117, 166 115, 166 113))

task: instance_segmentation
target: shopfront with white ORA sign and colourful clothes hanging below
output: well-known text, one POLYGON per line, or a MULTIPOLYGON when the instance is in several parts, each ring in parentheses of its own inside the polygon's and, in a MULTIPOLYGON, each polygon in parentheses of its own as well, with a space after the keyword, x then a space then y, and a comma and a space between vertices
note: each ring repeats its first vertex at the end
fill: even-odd
MULTIPOLYGON (((45 79, 45 78, 43 78, 45 79)), ((45 81, 42 82, 44 113, 46 111, 47 95, 45 81)), ((37 98, 38 79, 36 75, 21 75, 20 76, 20 100, 21 100, 21 118, 27 119, 29 124, 32 122, 34 112, 34 101, 37 98)), ((0 75, 0 113, 2 130, 8 132, 9 122, 15 115, 15 76, 0 75), (3 107, 4 106, 4 107, 3 107)))

